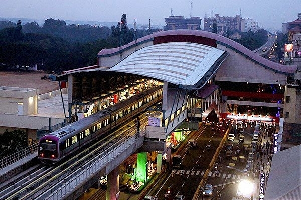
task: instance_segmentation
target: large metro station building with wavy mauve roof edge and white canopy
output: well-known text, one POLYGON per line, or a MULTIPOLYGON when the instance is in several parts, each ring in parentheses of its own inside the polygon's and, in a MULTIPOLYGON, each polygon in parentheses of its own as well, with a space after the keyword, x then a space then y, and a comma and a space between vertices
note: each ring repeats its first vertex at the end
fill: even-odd
POLYGON ((297 76, 295 65, 271 62, 226 37, 170 30, 103 49, 97 65, 58 78, 68 81, 69 118, 72 110, 77 115, 97 111, 155 81, 163 83, 163 102, 152 108, 160 123, 146 126, 145 138, 160 141, 152 143, 153 150, 167 153, 173 141, 182 141, 185 130, 197 129, 210 113, 219 119, 280 123, 282 146, 301 143, 297 76), (113 98, 108 101, 107 95, 113 98))

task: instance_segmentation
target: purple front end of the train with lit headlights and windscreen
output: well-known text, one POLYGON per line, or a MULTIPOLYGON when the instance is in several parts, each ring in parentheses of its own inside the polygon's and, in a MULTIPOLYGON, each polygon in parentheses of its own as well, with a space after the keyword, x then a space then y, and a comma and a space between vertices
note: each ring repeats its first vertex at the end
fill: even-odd
POLYGON ((45 135, 40 139, 38 148, 38 158, 42 163, 51 165, 60 161, 59 137, 55 135, 45 135))

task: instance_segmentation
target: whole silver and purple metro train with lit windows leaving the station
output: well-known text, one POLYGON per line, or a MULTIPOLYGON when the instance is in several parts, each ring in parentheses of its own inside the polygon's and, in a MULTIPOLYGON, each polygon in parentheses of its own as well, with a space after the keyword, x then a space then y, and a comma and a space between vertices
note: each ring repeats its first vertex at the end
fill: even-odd
POLYGON ((162 94, 163 86, 149 88, 43 136, 39 142, 38 158, 44 164, 55 164, 159 102, 162 94))

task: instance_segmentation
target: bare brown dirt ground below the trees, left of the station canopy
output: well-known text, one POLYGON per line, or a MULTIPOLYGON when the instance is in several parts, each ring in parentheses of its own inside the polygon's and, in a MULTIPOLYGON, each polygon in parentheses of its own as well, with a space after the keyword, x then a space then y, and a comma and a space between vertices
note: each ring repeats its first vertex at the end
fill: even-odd
POLYGON ((57 81, 42 79, 43 72, 3 72, 0 71, 0 87, 21 87, 39 89, 39 94, 48 93, 59 89, 57 81))

